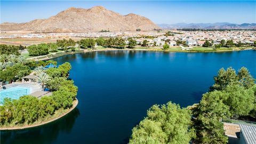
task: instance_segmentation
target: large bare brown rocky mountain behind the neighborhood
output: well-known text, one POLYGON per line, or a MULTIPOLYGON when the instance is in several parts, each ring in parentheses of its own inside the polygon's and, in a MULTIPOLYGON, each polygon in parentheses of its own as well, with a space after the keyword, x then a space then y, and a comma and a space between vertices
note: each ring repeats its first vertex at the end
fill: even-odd
POLYGON ((37 19, 26 23, 8 23, 0 25, 0 30, 26 30, 35 33, 81 32, 81 31, 135 31, 160 29, 155 23, 137 14, 121 15, 95 6, 91 9, 69 9, 48 19, 37 19))

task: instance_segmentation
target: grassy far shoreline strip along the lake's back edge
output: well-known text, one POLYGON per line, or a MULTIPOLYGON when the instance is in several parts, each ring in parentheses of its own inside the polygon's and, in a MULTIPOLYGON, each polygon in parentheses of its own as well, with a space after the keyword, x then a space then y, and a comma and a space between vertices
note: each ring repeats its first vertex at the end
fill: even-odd
POLYGON ((102 46, 95 47, 95 49, 76 49, 75 51, 68 51, 68 52, 56 52, 50 53, 47 55, 41 55, 38 57, 29 57, 28 59, 33 59, 35 61, 39 60, 49 60, 53 58, 58 58, 63 55, 68 54, 76 54, 76 53, 84 53, 84 52, 95 52, 95 51, 155 51, 155 52, 185 52, 185 53, 206 53, 206 52, 233 52, 233 51, 244 51, 244 50, 256 50, 255 47, 243 47, 242 49, 239 48, 227 48, 221 47, 220 49, 213 49, 213 47, 194 47, 192 50, 181 50, 181 48, 170 48, 163 51, 161 48, 155 47, 135 47, 134 49, 117 49, 117 48, 105 48, 102 46))

